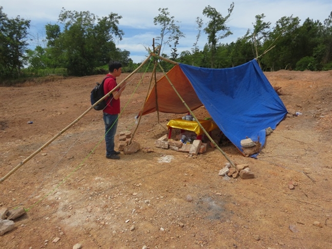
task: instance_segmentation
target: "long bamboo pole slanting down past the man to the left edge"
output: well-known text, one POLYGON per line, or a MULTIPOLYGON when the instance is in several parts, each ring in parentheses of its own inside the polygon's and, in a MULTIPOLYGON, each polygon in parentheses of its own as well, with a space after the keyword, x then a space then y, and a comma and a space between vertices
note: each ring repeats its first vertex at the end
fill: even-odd
MULTIPOLYGON (((129 74, 125 79, 123 79, 120 84, 118 85, 119 87, 126 82, 127 79, 129 79, 134 73, 136 73, 144 64, 147 63, 147 61, 151 58, 151 55, 148 56, 146 60, 144 60, 141 65, 136 68, 131 74, 129 74)), ((40 147, 38 150, 36 150, 34 153, 32 153, 29 157, 24 159, 22 162, 18 163, 14 169, 12 169, 9 173, 7 173, 4 177, 0 179, 0 183, 2 183, 4 180, 6 180, 10 175, 12 175, 16 170, 18 170, 20 167, 22 167, 27 161, 29 161, 31 158, 33 158, 35 155, 37 155, 39 152, 43 151, 51 142, 53 142, 56 138, 58 138, 61 134, 63 134, 65 131, 67 131, 70 127, 73 126, 73 124, 77 123, 78 120, 80 120, 82 117, 84 117, 88 112, 91 111, 98 103, 100 103, 103 99, 106 97, 109 97, 111 93, 113 93, 115 89, 110 91, 108 94, 103 96, 101 99, 99 99, 97 102, 94 103, 88 110, 86 110, 84 113, 82 113, 78 118, 76 118, 73 122, 71 122, 65 129, 61 130, 58 134, 56 134, 52 139, 50 139, 47 143, 45 143, 42 147, 40 147)))

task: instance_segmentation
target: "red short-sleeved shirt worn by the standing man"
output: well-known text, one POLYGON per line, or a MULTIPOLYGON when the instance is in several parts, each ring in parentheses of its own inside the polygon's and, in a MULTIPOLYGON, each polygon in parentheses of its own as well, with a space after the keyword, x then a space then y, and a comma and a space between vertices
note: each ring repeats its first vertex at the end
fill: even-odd
MULTIPOLYGON (((109 77, 105 79, 104 81, 104 93, 108 94, 113 88, 117 87, 116 78, 114 78, 112 75, 107 74, 106 77, 109 77)), ((119 89, 117 89, 119 91, 119 89)), ((114 99, 113 94, 110 95, 109 98, 106 98, 106 101, 108 103, 107 107, 103 109, 103 112, 106 112, 111 115, 119 114, 120 113, 120 98, 114 99), (110 102, 110 99, 111 102, 110 102)))

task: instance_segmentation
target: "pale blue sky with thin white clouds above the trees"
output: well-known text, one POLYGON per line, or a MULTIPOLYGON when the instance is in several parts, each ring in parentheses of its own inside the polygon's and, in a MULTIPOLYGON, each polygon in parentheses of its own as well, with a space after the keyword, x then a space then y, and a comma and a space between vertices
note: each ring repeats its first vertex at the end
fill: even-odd
MULTIPOLYGON (((152 49, 153 38, 160 35, 160 27, 153 23, 154 17, 159 15, 159 8, 168 8, 170 16, 178 23, 185 37, 179 40, 178 53, 191 50, 198 34, 196 18, 203 19, 205 27, 208 19, 202 14, 205 7, 215 8, 225 17, 234 2, 232 15, 227 23, 227 27, 233 35, 221 40, 221 43, 231 43, 237 38, 245 35, 248 29, 253 29, 255 16, 264 14, 264 22, 270 22, 273 28, 281 17, 299 17, 301 24, 306 18, 319 20, 324 23, 332 12, 332 0, 0 0, 3 12, 9 18, 20 16, 31 20, 29 41, 30 47, 34 49, 36 45, 44 47, 45 25, 56 24, 62 8, 70 11, 89 11, 98 17, 108 16, 111 12, 122 18, 119 20, 119 28, 123 30, 122 40, 115 40, 116 46, 122 51, 130 52, 130 58, 134 63, 140 63, 148 54, 147 48, 152 49)), ((203 49, 207 43, 206 35, 201 31, 198 47, 203 49)), ((162 51, 170 56, 170 49, 165 47, 162 51)))

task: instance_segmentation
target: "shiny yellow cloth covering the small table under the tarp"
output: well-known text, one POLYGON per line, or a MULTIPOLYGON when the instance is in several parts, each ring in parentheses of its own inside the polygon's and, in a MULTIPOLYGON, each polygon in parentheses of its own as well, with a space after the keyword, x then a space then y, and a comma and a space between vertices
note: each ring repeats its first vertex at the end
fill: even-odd
MULTIPOLYGON (((214 129, 217 129, 218 126, 213 120, 198 119, 205 131, 210 132, 214 129)), ((187 131, 193 131, 197 136, 204 134, 203 130, 200 128, 199 124, 196 121, 189 121, 179 119, 172 119, 168 122, 167 128, 177 128, 187 131)))

